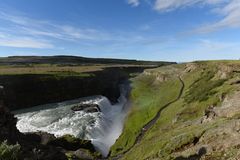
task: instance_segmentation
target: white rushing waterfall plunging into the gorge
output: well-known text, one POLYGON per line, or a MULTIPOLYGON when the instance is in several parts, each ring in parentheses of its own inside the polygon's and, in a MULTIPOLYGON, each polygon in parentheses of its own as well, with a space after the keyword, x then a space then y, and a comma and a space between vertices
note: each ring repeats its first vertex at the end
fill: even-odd
POLYGON ((43 131, 56 137, 66 134, 92 141, 96 150, 107 156, 123 129, 127 113, 129 85, 120 85, 121 95, 116 104, 104 96, 91 96, 72 101, 36 106, 14 111, 20 132, 43 131), (76 104, 97 104, 101 112, 73 111, 76 104))

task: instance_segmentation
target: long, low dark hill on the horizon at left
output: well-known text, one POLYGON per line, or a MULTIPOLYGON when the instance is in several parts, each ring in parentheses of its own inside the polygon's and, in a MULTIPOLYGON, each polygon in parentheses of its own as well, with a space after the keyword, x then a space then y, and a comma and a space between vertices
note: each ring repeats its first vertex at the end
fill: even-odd
POLYGON ((163 65, 173 62, 163 61, 138 61, 109 58, 86 58, 78 56, 11 56, 0 58, 0 65, 14 64, 66 64, 66 65, 89 65, 89 64, 132 64, 132 65, 163 65))

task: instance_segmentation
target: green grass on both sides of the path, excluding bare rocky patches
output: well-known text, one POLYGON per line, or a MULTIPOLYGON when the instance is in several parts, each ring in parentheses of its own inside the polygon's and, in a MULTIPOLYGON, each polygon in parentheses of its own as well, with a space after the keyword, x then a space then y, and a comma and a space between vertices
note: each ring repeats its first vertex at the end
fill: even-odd
MULTIPOLYGON (((162 111, 160 118, 146 132, 142 141, 127 152, 122 159, 175 159, 174 153, 177 150, 193 143, 194 139, 201 137, 205 131, 227 121, 227 119, 217 119, 207 124, 199 123, 209 106, 221 104, 222 101, 219 97, 236 90, 236 87, 230 85, 229 81, 239 75, 229 73, 225 79, 216 76, 219 64, 224 65, 225 61, 197 62, 195 64, 197 69, 190 73, 184 73, 181 69, 183 67, 178 66, 178 69, 182 70, 181 77, 185 83, 182 97, 162 111)), ((234 62, 234 65, 238 67, 239 64, 239 62, 234 62)), ((232 63, 225 65, 232 65, 232 63)), ((159 70, 161 69, 152 70, 152 73, 159 72, 159 70)), ((164 74, 166 72, 168 70, 165 70, 164 74)), ((161 104, 166 104, 174 97, 171 93, 176 94, 176 90, 178 90, 176 85, 173 87, 173 84, 178 82, 176 78, 154 86, 152 85, 155 81, 154 77, 150 77, 151 75, 141 75, 133 82, 133 94, 136 92, 132 98, 133 106, 126 120, 123 134, 112 147, 112 155, 118 155, 125 150, 125 147, 129 148, 132 145, 138 129, 152 116, 150 114, 149 119, 146 118, 148 112, 156 111, 153 109, 154 107, 152 108, 154 102, 161 107, 161 104), (156 98, 158 94, 153 90, 162 91, 165 95, 156 98)), ((186 157, 191 154, 193 153, 187 152, 186 157)))

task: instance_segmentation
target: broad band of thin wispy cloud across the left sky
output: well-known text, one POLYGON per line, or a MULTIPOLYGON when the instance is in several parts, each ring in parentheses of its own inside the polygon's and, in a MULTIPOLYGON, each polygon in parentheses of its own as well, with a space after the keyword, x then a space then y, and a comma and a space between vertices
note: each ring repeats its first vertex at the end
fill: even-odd
MULTIPOLYGON (((0 45, 21 48, 55 48, 59 42, 71 43, 91 48, 120 49, 135 45, 161 43, 162 37, 143 36, 138 31, 104 31, 95 28, 83 28, 68 24, 58 24, 46 20, 35 20, 25 14, 0 12, 0 45), (4 33, 5 35, 3 35, 4 33), (22 38, 24 37, 24 38, 22 38), (104 44, 104 45, 103 45, 104 44), (107 44, 107 45, 106 45, 107 44)), ((148 25, 143 30, 148 30, 148 25)), ((165 39, 165 38, 164 38, 165 39)), ((67 45, 66 45, 67 46, 67 45)))

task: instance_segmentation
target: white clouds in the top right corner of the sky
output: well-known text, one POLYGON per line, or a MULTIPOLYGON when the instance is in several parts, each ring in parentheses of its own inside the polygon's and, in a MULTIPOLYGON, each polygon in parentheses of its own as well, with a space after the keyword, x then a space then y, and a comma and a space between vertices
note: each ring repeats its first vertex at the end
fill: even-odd
POLYGON ((154 9, 159 12, 170 12, 191 6, 208 5, 212 13, 222 17, 220 20, 195 29, 195 33, 214 32, 227 27, 240 27, 240 0, 155 0, 154 9))

